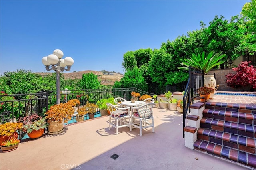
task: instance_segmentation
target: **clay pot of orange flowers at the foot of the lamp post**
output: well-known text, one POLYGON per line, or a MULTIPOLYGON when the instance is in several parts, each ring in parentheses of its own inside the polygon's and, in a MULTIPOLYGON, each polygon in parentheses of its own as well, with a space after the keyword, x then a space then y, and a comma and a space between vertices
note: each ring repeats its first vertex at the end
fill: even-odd
POLYGON ((46 121, 49 123, 48 134, 58 134, 63 131, 64 123, 68 123, 74 113, 75 100, 77 99, 53 105, 45 113, 46 121))

